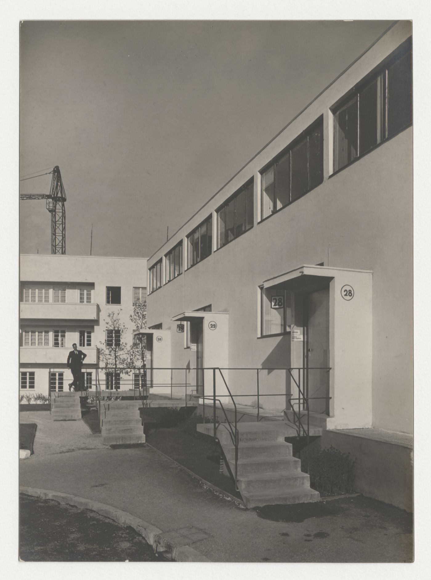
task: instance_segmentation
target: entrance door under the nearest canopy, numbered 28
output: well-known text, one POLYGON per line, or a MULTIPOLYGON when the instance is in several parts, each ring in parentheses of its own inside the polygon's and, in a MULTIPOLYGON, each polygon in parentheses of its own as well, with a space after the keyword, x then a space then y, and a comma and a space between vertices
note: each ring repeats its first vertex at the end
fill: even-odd
MULTIPOLYGON (((305 295, 306 396, 329 396, 329 288, 305 295), (323 367, 323 368, 322 368, 323 367)), ((310 411, 329 414, 329 401, 309 401, 310 411)))

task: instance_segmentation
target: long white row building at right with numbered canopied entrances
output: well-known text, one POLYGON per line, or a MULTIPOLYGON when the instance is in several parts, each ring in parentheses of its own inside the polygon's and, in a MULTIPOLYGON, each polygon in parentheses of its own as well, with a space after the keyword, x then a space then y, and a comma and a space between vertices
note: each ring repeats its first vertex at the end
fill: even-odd
MULTIPOLYGON (((212 393, 211 367, 224 368, 250 405, 255 369, 304 369, 297 380, 302 372, 325 418, 326 443, 358 458, 359 491, 403 507, 412 493, 411 84, 404 21, 148 260, 154 367, 202 369, 189 374, 198 393, 212 393)), ((268 411, 298 396, 286 372, 260 380, 268 411)), ((220 379, 217 395, 227 395, 220 379)))

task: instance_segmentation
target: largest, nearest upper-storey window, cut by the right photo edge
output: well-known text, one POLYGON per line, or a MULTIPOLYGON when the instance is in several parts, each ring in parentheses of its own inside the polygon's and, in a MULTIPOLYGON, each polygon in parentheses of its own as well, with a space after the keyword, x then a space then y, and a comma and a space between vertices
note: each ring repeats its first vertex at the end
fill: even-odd
POLYGON ((412 122, 411 40, 333 109, 334 171, 412 122))

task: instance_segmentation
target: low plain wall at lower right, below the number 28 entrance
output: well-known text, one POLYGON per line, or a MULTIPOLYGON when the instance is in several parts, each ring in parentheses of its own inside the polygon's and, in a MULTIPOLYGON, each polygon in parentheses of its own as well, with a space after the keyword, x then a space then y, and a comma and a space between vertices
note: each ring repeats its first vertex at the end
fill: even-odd
POLYGON ((333 445, 356 459, 355 491, 413 511, 413 450, 353 434, 326 431, 311 447, 333 445))

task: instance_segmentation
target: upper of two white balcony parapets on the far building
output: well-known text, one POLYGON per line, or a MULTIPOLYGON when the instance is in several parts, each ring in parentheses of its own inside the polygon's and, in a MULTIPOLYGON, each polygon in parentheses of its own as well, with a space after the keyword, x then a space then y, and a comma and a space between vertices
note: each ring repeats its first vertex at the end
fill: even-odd
POLYGON ((65 302, 21 302, 21 320, 98 320, 97 304, 65 302))

